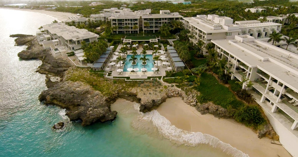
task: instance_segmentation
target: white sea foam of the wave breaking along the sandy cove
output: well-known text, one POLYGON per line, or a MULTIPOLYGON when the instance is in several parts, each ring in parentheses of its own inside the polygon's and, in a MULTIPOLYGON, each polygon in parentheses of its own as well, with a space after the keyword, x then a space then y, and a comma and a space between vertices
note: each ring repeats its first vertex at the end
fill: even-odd
MULTIPOLYGON (((134 109, 139 110, 139 104, 134 104, 134 109)), ((232 147, 230 144, 221 142, 218 138, 201 132, 190 132, 177 128, 158 111, 153 110, 147 113, 139 112, 139 121, 152 122, 159 133, 166 139, 176 144, 197 146, 198 144, 209 144, 212 147, 221 149, 224 153, 235 157, 249 157, 248 154, 232 147)))

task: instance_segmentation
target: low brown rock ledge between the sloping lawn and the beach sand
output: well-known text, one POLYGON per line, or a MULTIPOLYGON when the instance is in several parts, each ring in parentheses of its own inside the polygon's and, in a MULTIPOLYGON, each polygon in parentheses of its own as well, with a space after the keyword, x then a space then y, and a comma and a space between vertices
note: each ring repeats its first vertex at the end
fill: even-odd
POLYGON ((197 104, 195 109, 201 114, 213 114, 217 118, 232 118, 233 115, 228 111, 228 109, 223 108, 219 105, 214 105, 212 102, 208 102, 205 104, 197 104))

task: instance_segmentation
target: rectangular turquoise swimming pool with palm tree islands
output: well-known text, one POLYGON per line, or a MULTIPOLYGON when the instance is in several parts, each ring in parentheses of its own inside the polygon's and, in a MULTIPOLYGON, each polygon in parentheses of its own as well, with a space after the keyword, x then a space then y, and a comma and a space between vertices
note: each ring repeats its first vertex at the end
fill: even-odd
MULTIPOLYGON (((127 55, 126 57, 126 61, 125 61, 125 65, 123 68, 124 72, 129 72, 127 71, 128 68, 133 68, 133 66, 131 65, 132 61, 129 61, 129 59, 131 59, 132 55, 127 55)), ((142 68, 144 68, 144 65, 142 65, 142 60, 140 60, 141 57, 144 57, 144 55, 136 55, 136 65, 134 65, 134 68, 139 68, 141 71, 142 68)), ((149 60, 147 60, 147 65, 145 65, 145 68, 147 68, 147 71, 152 71, 151 68, 153 68, 153 60, 152 60, 152 55, 146 55, 146 58, 148 58, 149 60)))

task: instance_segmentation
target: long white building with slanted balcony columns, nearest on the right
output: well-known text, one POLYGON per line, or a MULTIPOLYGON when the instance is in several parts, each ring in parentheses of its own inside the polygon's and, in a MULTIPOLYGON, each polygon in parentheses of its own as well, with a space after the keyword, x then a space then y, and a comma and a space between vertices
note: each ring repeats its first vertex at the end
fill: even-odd
POLYGON ((232 66, 232 79, 252 81, 249 91, 280 136, 280 143, 292 156, 297 155, 298 55, 249 35, 212 43, 219 58, 232 66))

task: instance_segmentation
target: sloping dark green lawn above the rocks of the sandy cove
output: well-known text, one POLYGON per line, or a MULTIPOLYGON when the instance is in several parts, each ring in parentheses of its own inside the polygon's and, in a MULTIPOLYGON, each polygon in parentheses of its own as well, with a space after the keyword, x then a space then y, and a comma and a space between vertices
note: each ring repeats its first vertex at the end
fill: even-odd
POLYGON ((235 95, 229 89, 218 83, 218 80, 212 74, 203 73, 200 77, 200 86, 195 89, 203 94, 208 101, 212 101, 215 105, 227 108, 239 108, 244 105, 243 102, 236 99, 235 95))

